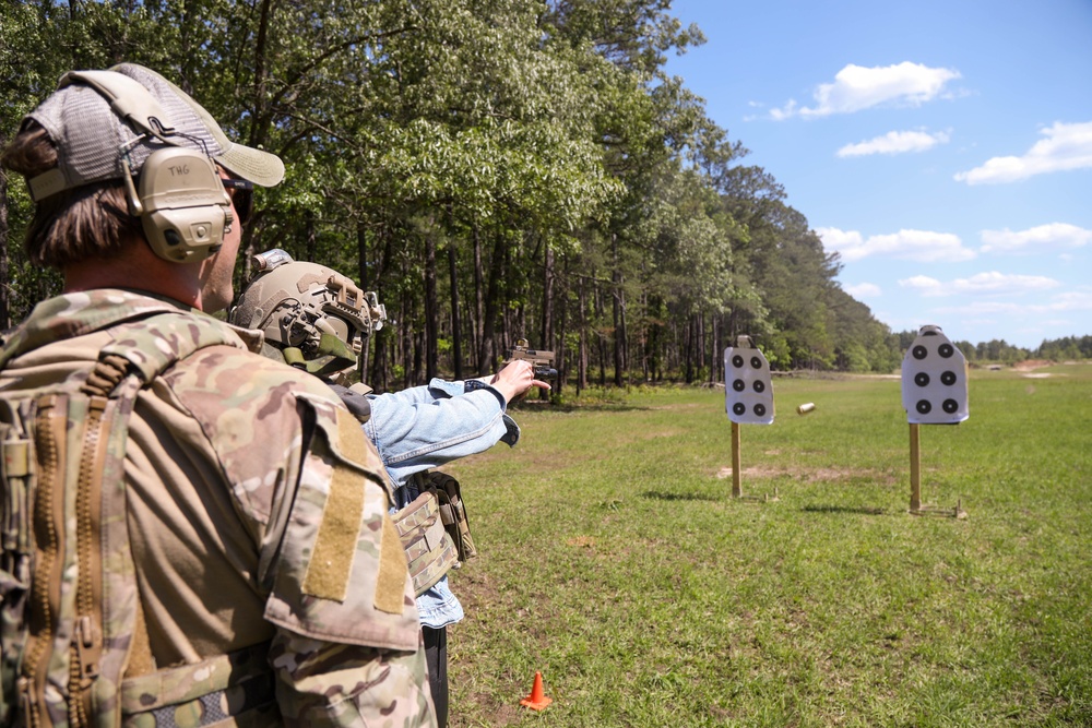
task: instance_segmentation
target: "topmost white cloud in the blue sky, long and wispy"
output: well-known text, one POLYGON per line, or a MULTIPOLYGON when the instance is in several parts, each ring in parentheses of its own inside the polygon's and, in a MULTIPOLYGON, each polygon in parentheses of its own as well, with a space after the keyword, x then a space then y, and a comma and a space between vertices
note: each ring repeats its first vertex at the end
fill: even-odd
POLYGON ((815 106, 798 107, 795 100, 790 100, 784 107, 773 109, 771 116, 781 120, 852 114, 881 104, 921 106, 940 96, 945 84, 959 77, 959 71, 930 69, 910 61, 873 68, 850 63, 834 75, 833 83, 819 84, 815 106))

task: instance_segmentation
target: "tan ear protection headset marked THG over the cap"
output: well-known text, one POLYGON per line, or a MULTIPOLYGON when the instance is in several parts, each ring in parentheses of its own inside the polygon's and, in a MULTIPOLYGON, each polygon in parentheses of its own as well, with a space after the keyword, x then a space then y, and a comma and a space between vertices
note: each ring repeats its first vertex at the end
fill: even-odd
MULTIPOLYGON (((209 155, 170 140, 180 134, 164 124, 163 107, 134 79, 114 71, 71 71, 58 87, 73 83, 97 91, 115 114, 143 134, 121 147, 121 167, 129 213, 141 218, 155 254, 175 263, 194 263, 219 250, 232 224, 232 200, 209 155), (129 148, 149 135, 166 146, 145 159, 136 186, 129 148)), ((186 139, 203 146, 199 139, 186 139)))

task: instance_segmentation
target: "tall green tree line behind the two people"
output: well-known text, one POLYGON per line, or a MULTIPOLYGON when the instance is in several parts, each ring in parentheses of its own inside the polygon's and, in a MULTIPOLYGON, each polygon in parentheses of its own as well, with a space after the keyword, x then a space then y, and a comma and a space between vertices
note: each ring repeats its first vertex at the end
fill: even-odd
MULTIPOLYGON (((703 43, 670 0, 26 0, 0 5, 0 143, 71 69, 143 63, 281 156, 252 254, 376 290, 378 391, 484 374, 519 338, 562 385, 722 381, 748 334, 781 369, 890 371, 900 337, 775 178, 665 71, 703 43)), ((0 324, 59 290, 0 178, 0 324)), ((240 256, 238 290, 250 275, 240 256)))

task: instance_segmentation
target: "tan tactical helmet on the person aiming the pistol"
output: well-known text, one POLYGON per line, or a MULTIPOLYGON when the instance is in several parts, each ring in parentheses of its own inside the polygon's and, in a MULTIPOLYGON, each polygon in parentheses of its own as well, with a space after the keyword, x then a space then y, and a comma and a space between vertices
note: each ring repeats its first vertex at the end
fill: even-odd
POLYGON ((230 323, 261 331, 294 367, 335 381, 346 378, 357 366, 364 337, 387 321, 376 293, 280 249, 259 253, 254 264, 254 276, 228 314, 230 323))

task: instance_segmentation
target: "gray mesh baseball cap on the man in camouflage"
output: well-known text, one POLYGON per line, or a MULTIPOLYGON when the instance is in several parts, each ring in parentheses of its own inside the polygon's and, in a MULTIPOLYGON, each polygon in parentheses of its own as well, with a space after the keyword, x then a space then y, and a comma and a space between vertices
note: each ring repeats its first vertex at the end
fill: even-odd
POLYGON ((232 142, 186 92, 135 63, 66 73, 57 91, 24 123, 28 119, 41 124, 58 155, 57 167, 27 180, 35 200, 122 179, 126 154, 138 172, 164 145, 200 150, 233 176, 261 187, 273 187, 284 178, 280 157, 232 142))

